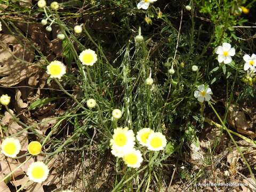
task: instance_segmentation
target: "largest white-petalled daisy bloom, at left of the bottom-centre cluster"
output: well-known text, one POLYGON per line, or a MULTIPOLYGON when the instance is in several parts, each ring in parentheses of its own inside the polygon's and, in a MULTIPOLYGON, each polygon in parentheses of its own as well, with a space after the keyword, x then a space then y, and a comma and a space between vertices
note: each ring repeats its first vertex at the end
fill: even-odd
POLYGON ((113 138, 110 140, 111 153, 116 157, 123 157, 124 151, 132 149, 134 146, 134 133, 128 127, 117 127, 114 130, 113 138))

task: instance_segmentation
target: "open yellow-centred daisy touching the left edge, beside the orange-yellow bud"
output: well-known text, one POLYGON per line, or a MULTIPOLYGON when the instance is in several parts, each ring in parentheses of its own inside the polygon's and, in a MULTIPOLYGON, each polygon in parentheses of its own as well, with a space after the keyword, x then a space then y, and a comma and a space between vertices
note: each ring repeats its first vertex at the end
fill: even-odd
POLYGON ((20 153, 20 141, 14 138, 5 138, 1 144, 1 153, 6 157, 15 158, 20 153))

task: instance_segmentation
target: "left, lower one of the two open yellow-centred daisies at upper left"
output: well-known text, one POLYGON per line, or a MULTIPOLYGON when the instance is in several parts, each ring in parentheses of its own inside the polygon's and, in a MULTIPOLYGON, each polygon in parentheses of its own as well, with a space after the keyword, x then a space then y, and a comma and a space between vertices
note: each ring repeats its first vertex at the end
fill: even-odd
POLYGON ((60 61, 52 61, 47 66, 47 74, 51 75, 52 78, 61 78, 64 74, 66 74, 66 66, 60 61))

